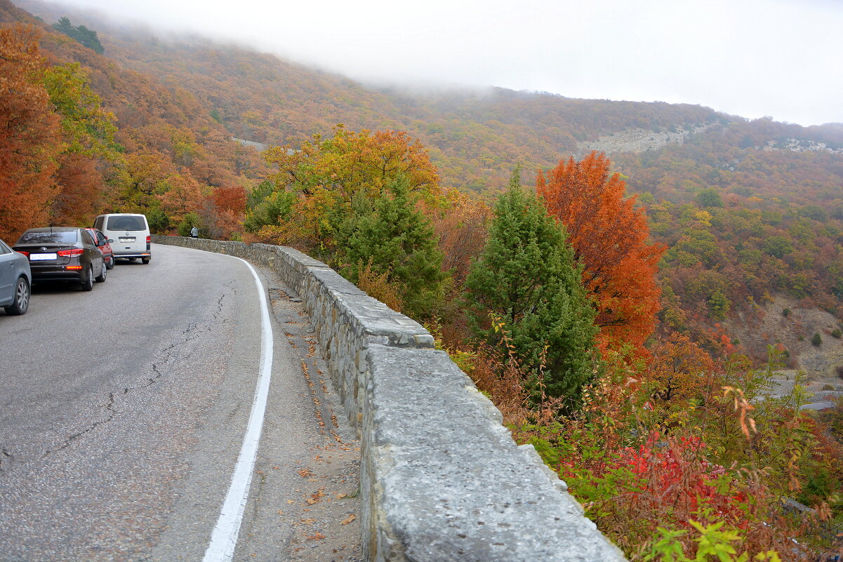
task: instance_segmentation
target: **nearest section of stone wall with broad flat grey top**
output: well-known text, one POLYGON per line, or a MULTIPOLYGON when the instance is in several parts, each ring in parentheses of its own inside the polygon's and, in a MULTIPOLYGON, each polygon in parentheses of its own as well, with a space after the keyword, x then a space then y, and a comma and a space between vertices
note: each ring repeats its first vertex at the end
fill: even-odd
POLYGON ((624 560, 447 354, 371 345, 367 362, 367 559, 624 560))

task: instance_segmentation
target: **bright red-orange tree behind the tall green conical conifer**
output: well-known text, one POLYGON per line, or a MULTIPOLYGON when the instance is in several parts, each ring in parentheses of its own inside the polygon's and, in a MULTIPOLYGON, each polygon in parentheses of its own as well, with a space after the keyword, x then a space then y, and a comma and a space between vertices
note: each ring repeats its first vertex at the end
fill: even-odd
POLYGON ((563 223, 577 264, 583 266, 583 286, 597 308, 599 345, 619 350, 633 346, 647 355, 644 342, 656 326, 660 288, 658 260, 665 248, 647 241, 647 216, 636 209, 635 197, 625 197, 620 174, 609 175, 609 159, 592 152, 581 161, 561 160, 536 190, 550 214, 563 223))

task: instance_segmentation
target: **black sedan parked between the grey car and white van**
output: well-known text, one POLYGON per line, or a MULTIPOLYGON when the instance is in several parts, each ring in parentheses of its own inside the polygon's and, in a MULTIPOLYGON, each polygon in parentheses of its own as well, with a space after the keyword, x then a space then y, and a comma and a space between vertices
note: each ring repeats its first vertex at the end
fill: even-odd
POLYGON ((30 259, 33 283, 77 281, 90 291, 94 280, 101 283, 108 275, 102 252, 84 228, 30 228, 13 249, 30 259))

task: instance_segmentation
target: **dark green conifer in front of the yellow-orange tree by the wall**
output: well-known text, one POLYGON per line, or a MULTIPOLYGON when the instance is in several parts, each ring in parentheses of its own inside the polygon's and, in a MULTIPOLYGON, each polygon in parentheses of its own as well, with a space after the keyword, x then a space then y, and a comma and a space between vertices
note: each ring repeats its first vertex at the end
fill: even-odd
POLYGON ((444 298, 443 255, 430 222, 416 211, 406 177, 392 180, 387 191, 391 196, 384 194, 371 214, 357 218, 343 273, 356 283, 360 268, 370 265, 374 273, 386 274, 389 283, 397 285, 402 312, 416 319, 430 318, 444 298))

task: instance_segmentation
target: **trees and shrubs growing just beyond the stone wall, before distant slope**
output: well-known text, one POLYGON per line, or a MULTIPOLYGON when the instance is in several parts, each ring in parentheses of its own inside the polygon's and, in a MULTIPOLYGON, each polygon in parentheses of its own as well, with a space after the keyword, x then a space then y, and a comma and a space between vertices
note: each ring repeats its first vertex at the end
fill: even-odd
POLYGON ((255 238, 318 255, 427 324, 630 559, 840 548, 836 418, 800 408, 801 381, 769 397, 775 346, 753 362, 728 339, 658 329, 669 250, 608 159, 563 160, 531 188, 515 169, 488 206, 435 173, 409 179, 431 168, 406 136, 336 132, 267 153, 279 172, 250 202, 255 238), (290 193, 277 222, 258 221, 290 193))

